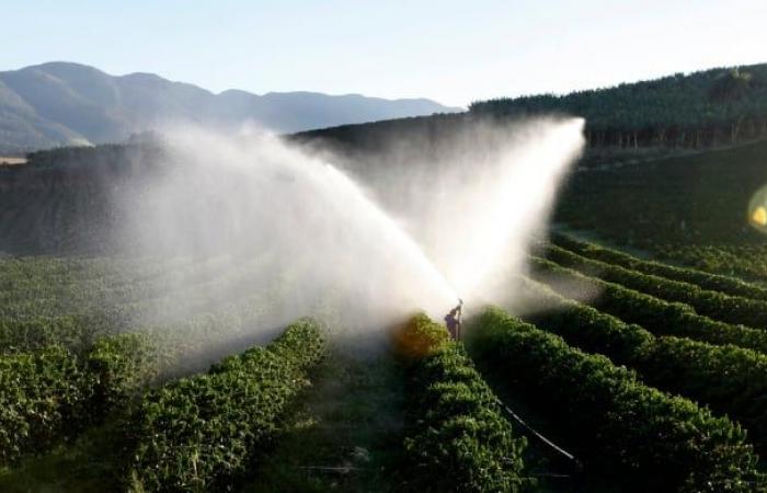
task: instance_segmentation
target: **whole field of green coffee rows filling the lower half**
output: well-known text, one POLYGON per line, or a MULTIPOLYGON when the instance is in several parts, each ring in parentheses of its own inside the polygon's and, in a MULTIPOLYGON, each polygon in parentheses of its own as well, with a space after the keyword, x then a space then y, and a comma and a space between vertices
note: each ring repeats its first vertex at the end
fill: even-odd
POLYGON ((1 260, 0 489, 767 488, 764 289, 563 234, 536 252, 463 341, 419 314, 374 353, 278 326, 268 254, 1 260))

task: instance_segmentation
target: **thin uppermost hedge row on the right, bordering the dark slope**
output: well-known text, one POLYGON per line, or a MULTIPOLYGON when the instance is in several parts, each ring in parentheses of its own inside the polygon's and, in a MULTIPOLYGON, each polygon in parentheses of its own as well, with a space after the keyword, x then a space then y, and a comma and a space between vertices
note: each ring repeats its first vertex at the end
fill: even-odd
POLYGON ((563 249, 573 251, 592 260, 619 265, 643 274, 695 284, 702 289, 720 291, 730 296, 740 296, 767 301, 767 289, 732 277, 709 274, 695 268, 676 267, 661 262, 637 259, 636 256, 627 253, 594 243, 579 241, 561 233, 554 233, 551 237, 551 241, 563 249))

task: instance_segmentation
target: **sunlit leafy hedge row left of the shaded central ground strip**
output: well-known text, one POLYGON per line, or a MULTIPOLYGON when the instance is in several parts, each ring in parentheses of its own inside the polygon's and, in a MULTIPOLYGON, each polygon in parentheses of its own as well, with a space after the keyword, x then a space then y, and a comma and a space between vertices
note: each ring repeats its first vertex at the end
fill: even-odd
POLYGON ((279 420, 327 354, 320 325, 293 323, 266 347, 145 394, 126 434, 138 491, 229 491, 279 432, 279 420))

